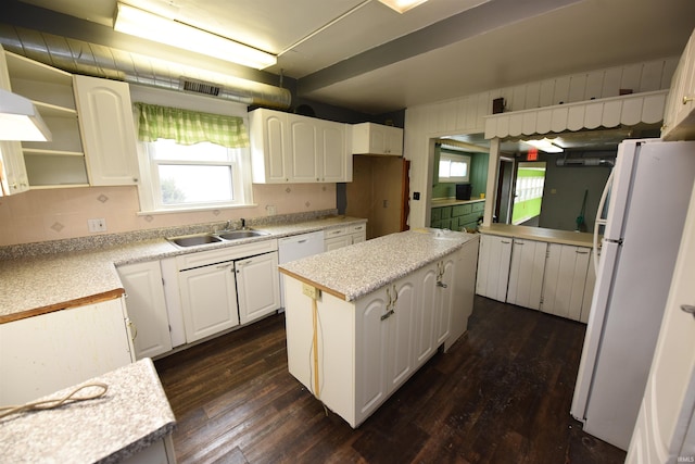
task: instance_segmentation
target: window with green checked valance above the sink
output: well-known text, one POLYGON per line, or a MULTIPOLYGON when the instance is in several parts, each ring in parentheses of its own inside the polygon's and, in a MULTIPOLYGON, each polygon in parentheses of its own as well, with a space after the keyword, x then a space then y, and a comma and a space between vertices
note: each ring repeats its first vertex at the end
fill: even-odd
POLYGON ((136 106, 143 212, 252 202, 249 136, 242 117, 136 106))

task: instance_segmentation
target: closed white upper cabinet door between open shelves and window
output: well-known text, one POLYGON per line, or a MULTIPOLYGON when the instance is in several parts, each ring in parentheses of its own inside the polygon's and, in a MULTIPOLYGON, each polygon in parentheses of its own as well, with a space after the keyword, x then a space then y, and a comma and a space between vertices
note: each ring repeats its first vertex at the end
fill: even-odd
POLYGON ((138 183, 132 104, 128 84, 73 76, 90 184, 138 183))

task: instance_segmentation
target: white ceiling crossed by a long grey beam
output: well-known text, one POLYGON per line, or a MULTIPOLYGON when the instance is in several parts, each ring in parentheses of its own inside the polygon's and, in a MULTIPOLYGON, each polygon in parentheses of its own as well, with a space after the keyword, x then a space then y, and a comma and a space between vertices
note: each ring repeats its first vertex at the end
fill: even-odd
MULTIPOLYGON (((110 27, 116 7, 22 1, 110 27)), ((300 97, 371 114, 680 55, 695 27, 695 0, 430 0, 402 15, 377 0, 125 1, 276 53, 266 71, 300 97)))

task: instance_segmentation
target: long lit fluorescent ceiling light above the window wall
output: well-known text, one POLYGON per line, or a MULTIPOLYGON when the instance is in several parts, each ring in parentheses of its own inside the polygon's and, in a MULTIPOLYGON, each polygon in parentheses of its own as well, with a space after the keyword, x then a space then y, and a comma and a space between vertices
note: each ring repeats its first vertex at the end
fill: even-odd
POLYGON ((113 28, 160 43, 206 54, 219 60, 263 70, 277 63, 277 57, 193 26, 117 3, 113 28))

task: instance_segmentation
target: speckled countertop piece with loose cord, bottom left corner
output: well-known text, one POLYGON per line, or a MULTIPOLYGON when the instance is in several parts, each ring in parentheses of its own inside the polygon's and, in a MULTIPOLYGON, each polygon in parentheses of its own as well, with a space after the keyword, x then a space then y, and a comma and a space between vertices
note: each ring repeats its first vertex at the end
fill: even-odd
MULTIPOLYGON (((88 380, 109 386, 99 399, 0 419, 0 461, 114 463, 174 430, 176 419, 150 359, 88 380)), ((84 385, 79 384, 79 385, 84 385)), ((66 388, 40 400, 59 399, 66 388)), ((87 394, 98 390, 83 390, 87 394)))

